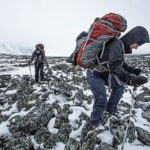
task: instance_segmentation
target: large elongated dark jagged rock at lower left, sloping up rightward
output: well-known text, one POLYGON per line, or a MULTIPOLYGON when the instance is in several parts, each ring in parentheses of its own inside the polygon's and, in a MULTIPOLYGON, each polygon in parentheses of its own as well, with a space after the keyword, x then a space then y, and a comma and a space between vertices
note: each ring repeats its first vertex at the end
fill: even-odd
POLYGON ((54 117, 53 109, 50 105, 41 105, 40 108, 32 109, 23 118, 15 116, 10 120, 10 131, 12 133, 24 131, 35 133, 41 127, 47 126, 49 120, 54 117))

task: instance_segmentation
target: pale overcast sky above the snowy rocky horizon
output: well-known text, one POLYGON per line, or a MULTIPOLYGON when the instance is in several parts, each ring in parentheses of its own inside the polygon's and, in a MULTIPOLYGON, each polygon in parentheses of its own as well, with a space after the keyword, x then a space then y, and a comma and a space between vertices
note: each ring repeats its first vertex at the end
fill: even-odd
MULTIPOLYGON (((119 13, 128 21, 127 31, 142 25, 150 33, 149 11, 150 0, 0 0, 0 44, 34 50, 42 42, 47 55, 68 56, 95 17, 119 13)), ((150 44, 136 53, 150 53, 150 44)))

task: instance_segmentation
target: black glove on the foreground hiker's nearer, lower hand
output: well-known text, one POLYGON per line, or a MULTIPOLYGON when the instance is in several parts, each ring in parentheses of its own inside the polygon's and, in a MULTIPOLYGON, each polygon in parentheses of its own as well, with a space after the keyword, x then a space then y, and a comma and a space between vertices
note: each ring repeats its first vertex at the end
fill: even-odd
POLYGON ((148 82, 148 78, 144 76, 130 76, 128 83, 131 86, 140 86, 148 82))

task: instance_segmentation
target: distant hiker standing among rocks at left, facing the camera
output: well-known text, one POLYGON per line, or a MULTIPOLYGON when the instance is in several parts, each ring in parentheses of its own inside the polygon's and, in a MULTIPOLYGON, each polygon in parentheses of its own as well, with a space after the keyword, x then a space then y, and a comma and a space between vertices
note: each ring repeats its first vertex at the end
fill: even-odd
POLYGON ((45 56, 44 45, 39 43, 35 46, 35 51, 32 53, 31 60, 29 60, 29 64, 35 60, 35 82, 39 82, 39 74, 40 81, 44 81, 44 63, 48 67, 47 59, 45 56))

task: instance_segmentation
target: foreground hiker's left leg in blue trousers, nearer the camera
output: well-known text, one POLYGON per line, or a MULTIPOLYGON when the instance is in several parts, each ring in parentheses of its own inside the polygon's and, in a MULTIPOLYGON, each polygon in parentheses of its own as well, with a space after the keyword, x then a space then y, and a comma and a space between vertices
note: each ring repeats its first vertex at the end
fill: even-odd
POLYGON ((87 71, 87 81, 93 92, 95 101, 90 121, 93 125, 99 124, 102 114, 107 105, 107 95, 105 89, 105 80, 93 75, 91 71, 87 71))

